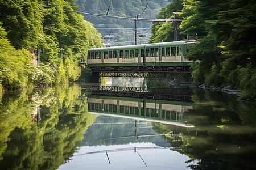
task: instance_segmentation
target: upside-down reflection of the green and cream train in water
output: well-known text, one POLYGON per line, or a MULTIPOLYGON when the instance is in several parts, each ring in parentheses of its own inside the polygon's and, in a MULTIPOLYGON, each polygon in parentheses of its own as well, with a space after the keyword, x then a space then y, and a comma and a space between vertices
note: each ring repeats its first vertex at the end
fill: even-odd
POLYGON ((186 122, 185 111, 191 103, 164 100, 147 100, 123 97, 89 96, 89 113, 162 122, 192 128, 186 122))

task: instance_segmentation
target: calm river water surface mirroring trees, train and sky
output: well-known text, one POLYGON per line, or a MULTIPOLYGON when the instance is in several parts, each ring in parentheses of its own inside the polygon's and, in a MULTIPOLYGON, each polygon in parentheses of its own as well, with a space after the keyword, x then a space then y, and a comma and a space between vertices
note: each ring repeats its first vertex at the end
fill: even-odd
POLYGON ((0 99, 0 169, 255 169, 256 106, 166 80, 102 79, 0 99))

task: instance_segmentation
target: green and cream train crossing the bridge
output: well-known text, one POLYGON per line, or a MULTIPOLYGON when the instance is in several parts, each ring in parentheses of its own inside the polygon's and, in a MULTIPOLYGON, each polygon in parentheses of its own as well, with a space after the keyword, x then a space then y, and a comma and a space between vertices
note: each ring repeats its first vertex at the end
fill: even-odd
POLYGON ((87 64, 94 71, 187 71, 192 61, 184 56, 194 43, 187 40, 93 48, 88 50, 87 64))

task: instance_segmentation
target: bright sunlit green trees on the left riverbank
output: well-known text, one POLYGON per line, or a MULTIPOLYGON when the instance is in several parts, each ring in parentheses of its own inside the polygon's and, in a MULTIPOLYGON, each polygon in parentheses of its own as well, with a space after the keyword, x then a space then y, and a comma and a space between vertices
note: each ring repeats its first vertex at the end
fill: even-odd
MULTIPOLYGON (((101 46, 101 35, 73 1, 0 1, 0 92, 33 84, 73 82, 86 50, 101 46), (39 56, 40 67, 31 64, 39 56)), ((1 93, 0 93, 1 94, 1 93)))

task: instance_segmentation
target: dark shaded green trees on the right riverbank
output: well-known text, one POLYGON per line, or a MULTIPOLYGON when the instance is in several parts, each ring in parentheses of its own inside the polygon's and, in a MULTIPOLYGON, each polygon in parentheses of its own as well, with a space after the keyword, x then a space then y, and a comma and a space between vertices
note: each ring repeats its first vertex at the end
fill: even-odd
MULTIPOLYGON (((166 10, 181 10, 166 16, 184 18, 178 30, 180 40, 187 35, 197 40, 187 55, 200 61, 192 65, 196 84, 242 90, 241 99, 255 101, 255 8, 253 0, 173 1, 157 17, 164 18, 166 10)), ((170 23, 153 23, 150 42, 173 41, 173 32, 170 23)))

